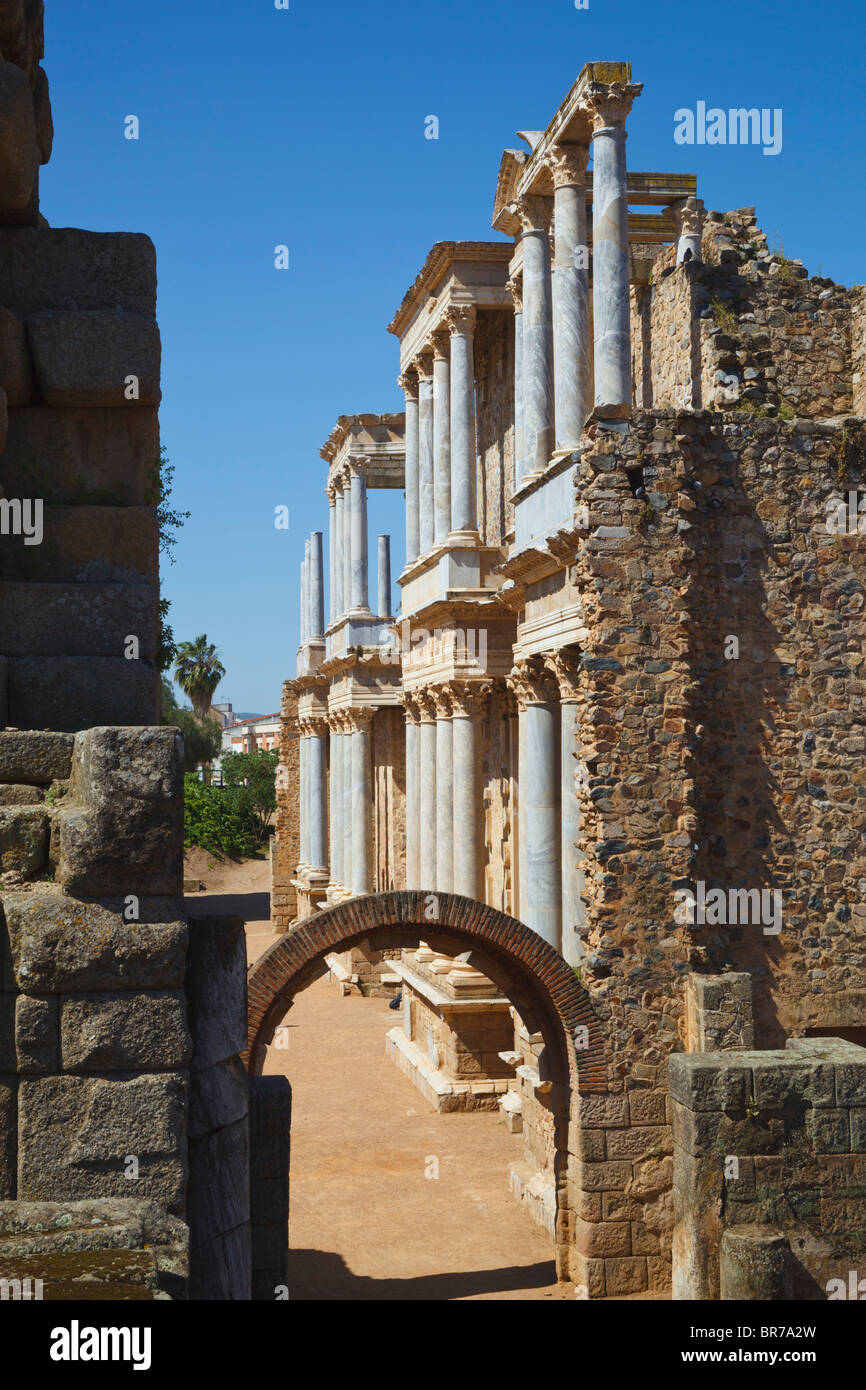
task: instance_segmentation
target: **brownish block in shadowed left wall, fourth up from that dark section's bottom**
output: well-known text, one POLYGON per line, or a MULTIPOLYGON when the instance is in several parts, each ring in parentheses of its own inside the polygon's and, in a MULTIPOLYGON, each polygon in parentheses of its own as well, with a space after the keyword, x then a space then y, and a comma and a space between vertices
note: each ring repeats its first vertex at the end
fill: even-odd
POLYGON ((150 406, 24 407, 8 413, 3 452, 7 498, 42 498, 46 505, 68 506, 147 506, 154 500, 158 463, 158 417, 150 406))

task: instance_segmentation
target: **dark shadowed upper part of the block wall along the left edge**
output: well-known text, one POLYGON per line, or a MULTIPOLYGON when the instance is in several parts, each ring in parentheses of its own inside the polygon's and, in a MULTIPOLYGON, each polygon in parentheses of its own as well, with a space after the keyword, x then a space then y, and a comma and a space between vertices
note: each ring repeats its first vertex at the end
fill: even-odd
POLYGON ((146 236, 39 214, 42 11, 0 4, 0 716, 154 724, 156 257, 146 236))

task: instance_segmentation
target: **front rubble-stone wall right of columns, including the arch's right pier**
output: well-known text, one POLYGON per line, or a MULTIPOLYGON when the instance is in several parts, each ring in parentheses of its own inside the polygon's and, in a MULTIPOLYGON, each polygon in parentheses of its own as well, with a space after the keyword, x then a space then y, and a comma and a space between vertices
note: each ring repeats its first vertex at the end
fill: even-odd
POLYGON ((866 542, 826 530, 862 482, 856 423, 635 411, 588 434, 581 979, 610 1094, 580 1099, 574 1180, 580 1272, 610 1294, 667 1277, 687 972, 751 972, 758 1047, 862 1022, 866 542), (781 930, 677 922, 698 881, 780 891, 781 930))

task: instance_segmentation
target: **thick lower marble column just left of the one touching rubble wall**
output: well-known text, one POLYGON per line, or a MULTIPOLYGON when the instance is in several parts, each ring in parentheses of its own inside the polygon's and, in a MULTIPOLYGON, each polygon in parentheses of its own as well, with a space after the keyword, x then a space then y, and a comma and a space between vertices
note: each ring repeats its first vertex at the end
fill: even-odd
POLYGON ((560 949, 562 827, 559 701, 537 660, 512 674, 520 730, 520 919, 560 949), (525 872, 524 872, 525 866, 525 872))

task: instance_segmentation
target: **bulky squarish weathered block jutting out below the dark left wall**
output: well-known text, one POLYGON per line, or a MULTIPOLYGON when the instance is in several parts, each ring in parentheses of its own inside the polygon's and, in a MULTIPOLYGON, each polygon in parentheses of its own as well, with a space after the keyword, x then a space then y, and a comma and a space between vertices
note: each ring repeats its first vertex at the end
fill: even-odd
POLYGON ((76 734, 70 796, 57 823, 57 877, 67 892, 179 894, 181 735, 170 728, 88 728, 76 734))

